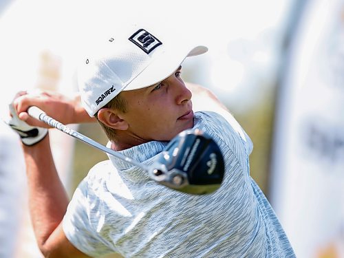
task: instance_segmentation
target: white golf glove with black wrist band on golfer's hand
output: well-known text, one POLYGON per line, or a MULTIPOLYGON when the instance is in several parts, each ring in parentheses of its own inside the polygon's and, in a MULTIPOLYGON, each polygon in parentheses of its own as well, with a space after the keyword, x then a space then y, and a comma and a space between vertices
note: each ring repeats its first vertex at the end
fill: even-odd
POLYGON ((45 138, 47 135, 47 128, 32 127, 23 120, 20 120, 12 103, 9 105, 9 109, 12 114, 12 118, 6 121, 6 123, 19 134, 23 144, 32 146, 45 138))

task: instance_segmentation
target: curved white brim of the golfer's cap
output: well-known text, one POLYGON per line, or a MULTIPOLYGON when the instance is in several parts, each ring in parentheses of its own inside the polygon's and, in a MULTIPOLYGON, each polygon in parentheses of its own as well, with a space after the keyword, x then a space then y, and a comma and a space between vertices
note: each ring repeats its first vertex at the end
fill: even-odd
POLYGON ((208 51, 208 47, 198 45, 191 47, 186 52, 163 52, 150 63, 136 78, 125 86, 122 90, 129 91, 133 89, 141 89, 160 83, 160 81, 169 77, 182 64, 184 59, 188 56, 197 56, 208 51), (173 53, 173 54, 171 54, 173 53))

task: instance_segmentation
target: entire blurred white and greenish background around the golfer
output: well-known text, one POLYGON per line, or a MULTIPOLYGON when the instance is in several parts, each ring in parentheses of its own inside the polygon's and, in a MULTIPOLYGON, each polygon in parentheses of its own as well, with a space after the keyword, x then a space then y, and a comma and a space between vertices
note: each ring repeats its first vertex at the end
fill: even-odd
MULTIPOLYGON (((211 89, 246 130, 251 176, 297 257, 344 257, 344 1, 0 1, 1 117, 22 89, 77 92, 78 56, 112 25, 147 19, 208 46, 182 78, 211 89)), ((71 125, 106 144, 97 124, 71 125)), ((17 135, 0 124, 0 257, 41 257, 17 135)), ((50 129, 72 195, 107 156, 50 129)))

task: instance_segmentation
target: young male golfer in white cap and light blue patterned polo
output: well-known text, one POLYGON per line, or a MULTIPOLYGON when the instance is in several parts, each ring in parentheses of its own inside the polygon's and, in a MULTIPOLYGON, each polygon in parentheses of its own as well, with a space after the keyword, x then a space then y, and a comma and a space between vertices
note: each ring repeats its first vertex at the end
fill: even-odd
POLYGON ((97 47, 80 67, 83 109, 54 94, 22 92, 13 102, 12 124, 19 122, 17 113, 31 125, 41 125, 25 113, 31 105, 65 123, 89 120, 87 111, 105 129, 111 149, 144 164, 151 164, 178 133, 197 128, 222 150, 224 182, 209 195, 181 193, 109 156, 89 171, 69 202, 47 130, 41 129, 38 136, 26 133, 22 141, 30 210, 43 254, 294 257, 268 200, 250 178, 250 138, 214 98, 206 101, 216 103, 213 108, 222 115, 193 111, 191 90, 201 95, 206 91, 186 87, 181 65, 187 56, 206 52, 206 47, 190 46, 189 39, 164 28, 140 26, 115 31, 97 47))

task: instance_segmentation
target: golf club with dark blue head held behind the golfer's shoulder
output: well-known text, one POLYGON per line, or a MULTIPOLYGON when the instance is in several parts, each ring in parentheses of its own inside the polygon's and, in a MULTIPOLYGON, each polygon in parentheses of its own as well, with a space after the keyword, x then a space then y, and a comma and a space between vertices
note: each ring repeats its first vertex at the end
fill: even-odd
POLYGON ((224 158, 219 147, 199 129, 188 129, 179 133, 158 155, 155 162, 147 166, 70 129, 47 116, 38 107, 30 107, 28 114, 92 147, 138 166, 155 182, 177 191, 195 195, 213 193, 221 186, 224 178, 224 158))

